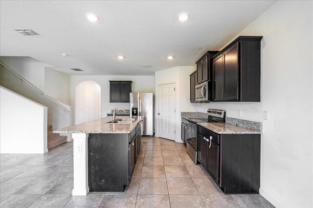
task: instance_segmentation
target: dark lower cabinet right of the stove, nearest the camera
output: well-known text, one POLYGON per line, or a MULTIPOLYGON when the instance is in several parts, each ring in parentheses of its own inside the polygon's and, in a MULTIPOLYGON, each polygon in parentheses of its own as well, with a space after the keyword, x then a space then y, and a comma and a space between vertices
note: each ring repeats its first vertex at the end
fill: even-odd
POLYGON ((216 134, 198 126, 198 160, 225 194, 259 193, 260 134, 216 134))

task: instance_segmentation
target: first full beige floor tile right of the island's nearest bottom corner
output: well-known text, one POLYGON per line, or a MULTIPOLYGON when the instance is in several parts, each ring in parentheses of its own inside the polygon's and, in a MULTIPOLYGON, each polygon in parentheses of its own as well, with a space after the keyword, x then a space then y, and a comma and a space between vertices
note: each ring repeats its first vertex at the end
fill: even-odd
POLYGON ((138 194, 168 194, 166 178, 141 178, 138 194))

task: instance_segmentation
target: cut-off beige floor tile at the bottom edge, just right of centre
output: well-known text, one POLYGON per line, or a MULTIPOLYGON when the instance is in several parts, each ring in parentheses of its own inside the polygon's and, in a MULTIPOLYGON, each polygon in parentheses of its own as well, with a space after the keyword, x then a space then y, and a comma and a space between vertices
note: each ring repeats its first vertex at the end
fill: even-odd
POLYGON ((170 195, 171 208, 205 208, 200 195, 170 195))

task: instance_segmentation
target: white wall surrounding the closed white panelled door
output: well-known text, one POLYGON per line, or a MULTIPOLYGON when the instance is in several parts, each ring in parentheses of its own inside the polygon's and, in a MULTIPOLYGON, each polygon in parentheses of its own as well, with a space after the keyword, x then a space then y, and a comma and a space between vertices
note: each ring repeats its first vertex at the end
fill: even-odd
MULTIPOLYGON (((194 112, 194 107, 190 104, 190 78, 189 75, 196 70, 195 66, 178 66, 156 72, 156 90, 159 84, 176 83, 176 142, 181 141, 180 132, 180 112, 194 112)), ((156 93, 157 96, 157 93, 156 93)), ((156 130, 157 130, 157 97, 156 97, 156 130)), ((157 131, 156 131, 157 136, 157 131)))

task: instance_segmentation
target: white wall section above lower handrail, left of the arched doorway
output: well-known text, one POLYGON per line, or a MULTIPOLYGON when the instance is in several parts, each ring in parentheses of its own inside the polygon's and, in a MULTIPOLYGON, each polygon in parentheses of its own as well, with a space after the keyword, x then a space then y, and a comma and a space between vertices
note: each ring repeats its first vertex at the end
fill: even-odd
POLYGON ((45 67, 45 94, 70 105, 70 76, 45 67))

